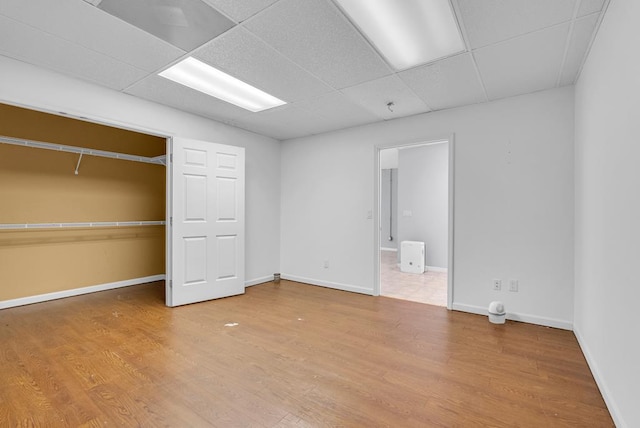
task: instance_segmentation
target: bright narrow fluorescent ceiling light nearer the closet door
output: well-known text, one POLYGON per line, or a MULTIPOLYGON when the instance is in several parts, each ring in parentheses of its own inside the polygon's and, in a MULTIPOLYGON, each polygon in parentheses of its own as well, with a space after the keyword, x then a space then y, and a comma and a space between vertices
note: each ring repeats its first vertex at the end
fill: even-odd
POLYGON ((192 57, 167 68, 160 76, 254 113, 286 104, 192 57))

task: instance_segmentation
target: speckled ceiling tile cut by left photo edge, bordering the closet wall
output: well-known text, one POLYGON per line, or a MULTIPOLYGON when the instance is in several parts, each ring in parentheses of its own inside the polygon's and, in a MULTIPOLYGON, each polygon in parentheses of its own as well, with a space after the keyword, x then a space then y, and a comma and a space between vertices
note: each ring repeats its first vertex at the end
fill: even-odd
POLYGON ((146 75, 121 61, 2 15, 0 54, 118 90, 146 75))

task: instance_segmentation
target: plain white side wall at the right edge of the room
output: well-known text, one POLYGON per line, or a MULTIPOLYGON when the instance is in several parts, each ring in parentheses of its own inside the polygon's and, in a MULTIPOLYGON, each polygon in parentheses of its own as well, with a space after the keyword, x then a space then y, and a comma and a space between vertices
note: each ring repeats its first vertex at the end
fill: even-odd
POLYGON ((576 86, 575 332, 619 427, 640 426, 639 23, 611 1, 576 86))

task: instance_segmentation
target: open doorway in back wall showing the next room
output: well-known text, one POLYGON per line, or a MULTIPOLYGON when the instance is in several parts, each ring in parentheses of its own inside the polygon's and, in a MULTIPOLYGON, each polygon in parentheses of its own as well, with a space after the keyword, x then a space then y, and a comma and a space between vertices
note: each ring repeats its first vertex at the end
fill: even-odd
POLYGON ((379 295, 451 307, 452 141, 378 149, 379 295))

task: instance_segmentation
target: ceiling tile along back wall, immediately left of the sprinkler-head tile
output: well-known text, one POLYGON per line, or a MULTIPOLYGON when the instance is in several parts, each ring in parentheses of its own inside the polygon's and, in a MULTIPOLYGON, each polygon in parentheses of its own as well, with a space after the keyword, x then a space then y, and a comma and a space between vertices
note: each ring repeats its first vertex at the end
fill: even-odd
POLYGON ((294 106, 323 118, 327 129, 349 128, 380 120, 340 92, 331 92, 313 100, 301 101, 294 106))

